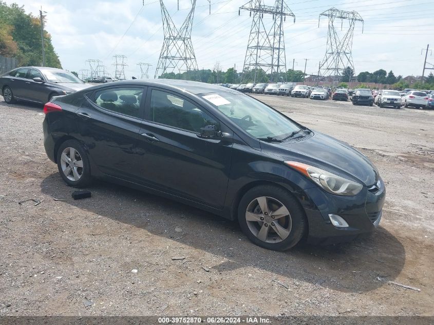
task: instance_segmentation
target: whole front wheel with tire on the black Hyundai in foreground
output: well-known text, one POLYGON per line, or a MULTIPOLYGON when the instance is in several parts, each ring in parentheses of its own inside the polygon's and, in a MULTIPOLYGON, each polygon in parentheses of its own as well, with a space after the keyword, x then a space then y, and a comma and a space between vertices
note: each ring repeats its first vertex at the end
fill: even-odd
POLYGON ((244 194, 238 221, 253 243, 275 251, 293 247, 307 230, 299 203, 285 189, 272 185, 257 186, 244 194))

